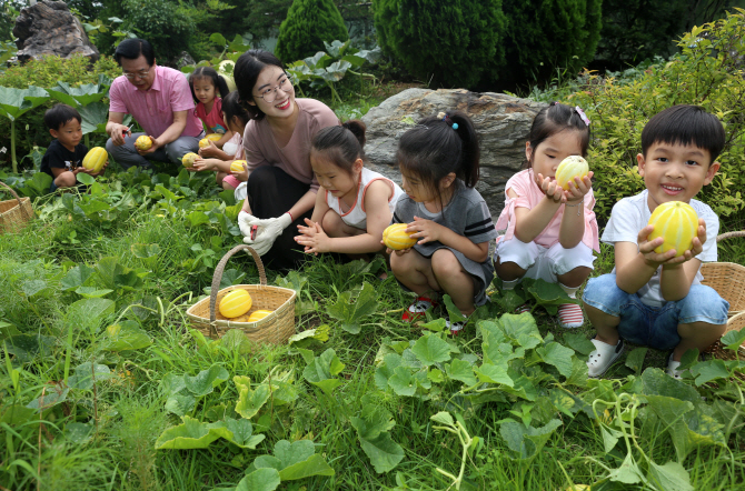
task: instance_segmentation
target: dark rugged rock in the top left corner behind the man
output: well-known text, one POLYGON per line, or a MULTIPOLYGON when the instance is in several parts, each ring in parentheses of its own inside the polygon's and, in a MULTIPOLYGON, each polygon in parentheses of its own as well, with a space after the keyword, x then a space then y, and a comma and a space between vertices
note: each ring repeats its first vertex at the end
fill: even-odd
POLYGON ((93 63, 100 57, 80 21, 64 2, 43 0, 21 9, 13 36, 18 38, 17 56, 21 62, 48 56, 70 58, 80 53, 89 57, 93 63))

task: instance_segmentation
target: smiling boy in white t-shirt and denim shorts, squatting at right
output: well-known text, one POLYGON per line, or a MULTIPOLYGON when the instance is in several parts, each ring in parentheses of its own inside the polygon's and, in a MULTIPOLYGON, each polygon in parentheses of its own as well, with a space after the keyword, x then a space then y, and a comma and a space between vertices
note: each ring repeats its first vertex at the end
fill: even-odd
POLYGON ((597 330, 587 367, 599 377, 624 351, 624 339, 659 350, 673 350, 667 373, 679 378, 681 357, 703 350, 726 328, 729 304, 701 284, 702 261, 716 261, 719 221, 714 211, 694 199, 714 179, 724 148, 719 120, 696 106, 675 106, 652 118, 642 131, 636 156, 646 190, 618 201, 610 212, 603 241, 612 243, 612 273, 587 282, 585 310, 597 330), (698 216, 693 248, 657 253, 663 238, 648 240, 652 212, 669 201, 691 204, 698 216))

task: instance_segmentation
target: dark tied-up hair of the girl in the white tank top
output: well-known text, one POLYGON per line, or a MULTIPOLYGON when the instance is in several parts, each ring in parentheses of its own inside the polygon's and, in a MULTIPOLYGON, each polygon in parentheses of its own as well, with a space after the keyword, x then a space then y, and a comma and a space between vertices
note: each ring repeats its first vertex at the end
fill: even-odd
POLYGON ((310 154, 324 152, 324 159, 351 174, 355 161, 365 160, 365 123, 356 119, 324 128, 314 137, 310 154))

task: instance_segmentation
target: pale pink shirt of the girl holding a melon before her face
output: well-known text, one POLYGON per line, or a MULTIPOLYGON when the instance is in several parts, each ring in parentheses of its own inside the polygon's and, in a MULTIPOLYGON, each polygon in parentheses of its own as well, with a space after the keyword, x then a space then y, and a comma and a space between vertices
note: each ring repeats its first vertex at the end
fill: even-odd
MULTIPOLYGON (((506 231, 503 240, 510 240, 515 237, 515 208, 527 208, 532 210, 545 198, 546 196, 535 182, 533 169, 523 170, 509 178, 507 186, 505 186, 505 209, 501 210, 499 220, 497 220, 496 224, 497 230, 506 231), (510 189, 517 194, 517 198, 507 196, 507 191, 510 189)), ((583 207, 585 213, 585 233, 582 237, 582 242, 588 248, 600 252, 600 240, 597 220, 595 218, 595 212, 593 211, 594 207, 595 196, 590 189, 585 196, 585 203, 583 207)), ((548 222, 548 226, 534 239, 535 243, 545 248, 550 248, 555 243, 558 243, 559 228, 562 226, 562 217, 564 216, 565 210, 567 209, 564 206, 559 207, 556 214, 554 214, 554 218, 552 218, 552 221, 548 222)), ((569 208, 567 212, 575 213, 575 210, 576 208, 569 208)))

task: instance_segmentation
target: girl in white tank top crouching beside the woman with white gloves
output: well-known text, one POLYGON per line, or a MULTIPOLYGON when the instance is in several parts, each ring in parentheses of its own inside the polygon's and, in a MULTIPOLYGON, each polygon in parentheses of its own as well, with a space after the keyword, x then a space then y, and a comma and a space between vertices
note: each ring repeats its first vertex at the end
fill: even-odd
POLYGON ((320 130, 312 141, 310 164, 320 189, 306 227, 295 241, 305 252, 351 255, 384 250, 383 231, 390 224, 404 191, 390 179, 365 169, 365 123, 347 121, 320 130))

